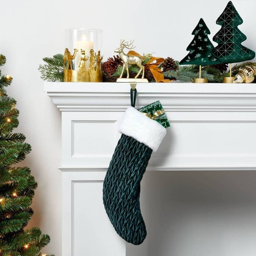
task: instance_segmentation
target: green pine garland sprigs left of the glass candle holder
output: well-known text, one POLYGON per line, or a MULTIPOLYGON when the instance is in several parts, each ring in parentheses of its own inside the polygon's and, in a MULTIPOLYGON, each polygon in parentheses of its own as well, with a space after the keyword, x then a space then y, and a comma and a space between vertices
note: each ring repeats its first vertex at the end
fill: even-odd
POLYGON ((39 65, 39 72, 41 78, 48 82, 63 82, 64 71, 63 71, 63 54, 55 54, 53 57, 45 57, 43 61, 47 64, 39 65))

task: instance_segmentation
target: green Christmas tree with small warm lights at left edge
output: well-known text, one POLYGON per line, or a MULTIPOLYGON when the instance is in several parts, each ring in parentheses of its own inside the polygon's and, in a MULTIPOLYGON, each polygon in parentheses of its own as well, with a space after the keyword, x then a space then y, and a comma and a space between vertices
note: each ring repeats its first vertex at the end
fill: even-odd
MULTIPOLYGON (((0 54, 0 66, 4 64, 0 54)), ((30 205, 37 183, 28 167, 12 166, 25 159, 31 147, 22 133, 12 133, 19 110, 4 89, 11 82, 11 76, 0 72, 0 256, 46 256, 40 251, 50 237, 37 227, 24 230, 33 215, 30 205)))

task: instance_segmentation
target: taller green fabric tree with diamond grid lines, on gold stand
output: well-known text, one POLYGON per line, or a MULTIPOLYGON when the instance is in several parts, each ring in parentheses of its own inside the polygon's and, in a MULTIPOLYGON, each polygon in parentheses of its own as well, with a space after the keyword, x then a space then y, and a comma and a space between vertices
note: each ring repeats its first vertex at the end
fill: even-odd
POLYGON ((218 45, 212 52, 221 63, 230 63, 230 76, 223 82, 232 83, 231 63, 251 60, 255 57, 255 52, 241 45, 241 42, 246 40, 246 35, 237 26, 241 25, 243 20, 231 1, 228 2, 216 23, 221 25, 221 29, 213 37, 213 41, 218 45))

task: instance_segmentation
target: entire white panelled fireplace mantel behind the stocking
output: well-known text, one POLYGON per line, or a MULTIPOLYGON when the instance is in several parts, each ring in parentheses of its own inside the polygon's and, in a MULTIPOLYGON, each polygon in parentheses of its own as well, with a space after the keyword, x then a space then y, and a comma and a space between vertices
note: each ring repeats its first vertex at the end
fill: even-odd
MULTIPOLYGON (((171 123, 147 170, 256 170, 256 84, 136 88, 136 107, 160 100, 171 123)), ((105 214, 102 182, 129 90, 128 83, 44 83, 62 113, 63 256, 125 255, 105 214)))

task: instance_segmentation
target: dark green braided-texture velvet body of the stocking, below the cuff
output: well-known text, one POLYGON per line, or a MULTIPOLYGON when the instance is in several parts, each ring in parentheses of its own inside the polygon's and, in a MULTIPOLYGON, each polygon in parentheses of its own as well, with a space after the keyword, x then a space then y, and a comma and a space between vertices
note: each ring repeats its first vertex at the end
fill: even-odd
POLYGON ((125 241, 141 244, 146 226, 140 212, 140 181, 152 149, 122 134, 103 183, 103 203, 116 232, 125 241))

